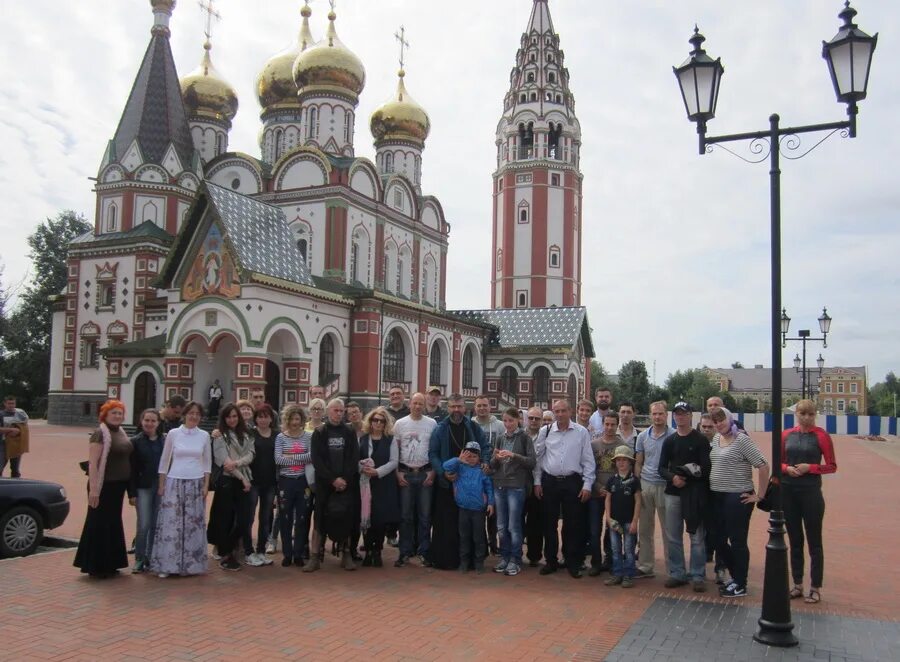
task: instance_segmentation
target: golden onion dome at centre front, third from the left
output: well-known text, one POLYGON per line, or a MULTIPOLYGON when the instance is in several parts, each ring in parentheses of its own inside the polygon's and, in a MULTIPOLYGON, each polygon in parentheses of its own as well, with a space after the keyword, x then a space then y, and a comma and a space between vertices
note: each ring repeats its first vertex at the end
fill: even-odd
POLYGON ((335 13, 328 13, 325 38, 308 48, 294 62, 294 82, 304 92, 336 92, 353 101, 366 85, 366 69, 349 48, 338 39, 335 13))

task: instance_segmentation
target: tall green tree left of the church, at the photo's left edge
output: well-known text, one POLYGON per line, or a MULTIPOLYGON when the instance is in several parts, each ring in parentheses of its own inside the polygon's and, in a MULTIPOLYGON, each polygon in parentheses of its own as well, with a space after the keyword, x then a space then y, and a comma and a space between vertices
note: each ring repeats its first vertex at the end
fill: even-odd
POLYGON ((50 331, 53 310, 50 298, 66 287, 66 254, 75 237, 89 231, 85 218, 64 211, 48 218, 28 237, 32 276, 9 317, 4 345, 11 391, 22 407, 34 410, 46 402, 50 377, 50 331))

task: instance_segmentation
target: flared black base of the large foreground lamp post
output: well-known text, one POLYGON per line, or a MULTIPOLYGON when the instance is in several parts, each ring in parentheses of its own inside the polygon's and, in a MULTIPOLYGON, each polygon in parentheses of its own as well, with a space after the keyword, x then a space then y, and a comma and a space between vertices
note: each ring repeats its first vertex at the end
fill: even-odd
POLYGON ((763 603, 759 630, 754 641, 767 646, 796 646, 794 623, 791 621, 790 584, 788 581, 787 545, 784 541, 784 513, 773 510, 769 516, 769 542, 766 543, 766 567, 763 581, 763 603))

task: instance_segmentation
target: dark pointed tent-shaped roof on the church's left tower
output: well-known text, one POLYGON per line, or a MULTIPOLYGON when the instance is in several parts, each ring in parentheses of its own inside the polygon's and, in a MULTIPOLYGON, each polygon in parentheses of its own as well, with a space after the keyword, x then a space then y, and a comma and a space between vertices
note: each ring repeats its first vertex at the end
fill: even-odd
POLYGON ((113 137, 114 160, 121 159, 137 138, 145 161, 162 164, 169 143, 185 168, 191 166, 194 142, 181 99, 181 87, 169 38, 161 33, 150 38, 122 119, 113 137))

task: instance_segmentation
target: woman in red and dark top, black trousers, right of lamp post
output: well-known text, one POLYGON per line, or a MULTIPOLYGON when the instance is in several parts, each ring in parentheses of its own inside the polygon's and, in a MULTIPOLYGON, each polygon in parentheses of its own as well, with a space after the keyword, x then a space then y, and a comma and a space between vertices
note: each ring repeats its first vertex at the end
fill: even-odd
POLYGON ((837 471, 834 445, 825 430, 816 427, 816 405, 812 400, 797 403, 799 425, 785 430, 781 437, 781 493, 784 519, 791 546, 791 574, 794 587, 791 598, 803 596, 804 536, 809 545, 811 585, 806 602, 822 599, 824 551, 822 520, 825 499, 822 497, 822 474, 837 471))

